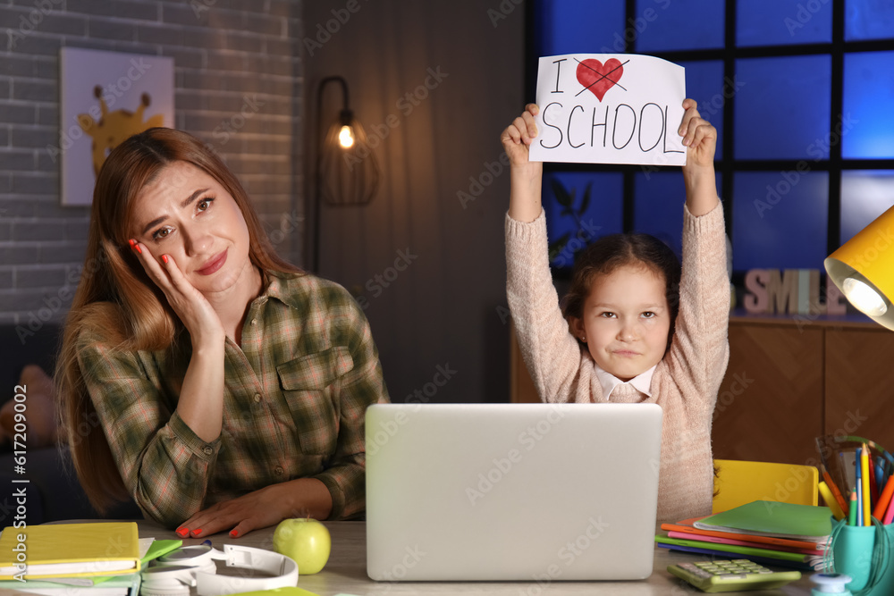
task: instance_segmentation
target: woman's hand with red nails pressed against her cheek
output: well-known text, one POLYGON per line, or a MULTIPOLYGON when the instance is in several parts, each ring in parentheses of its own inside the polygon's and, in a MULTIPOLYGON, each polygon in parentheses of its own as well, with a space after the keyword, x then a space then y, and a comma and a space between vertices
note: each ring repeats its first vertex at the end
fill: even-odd
POLYGON ((190 332, 193 347, 205 340, 222 342, 226 333, 220 317, 207 298, 186 279, 173 257, 155 256, 145 244, 132 239, 130 244, 149 279, 164 292, 168 304, 190 332))

